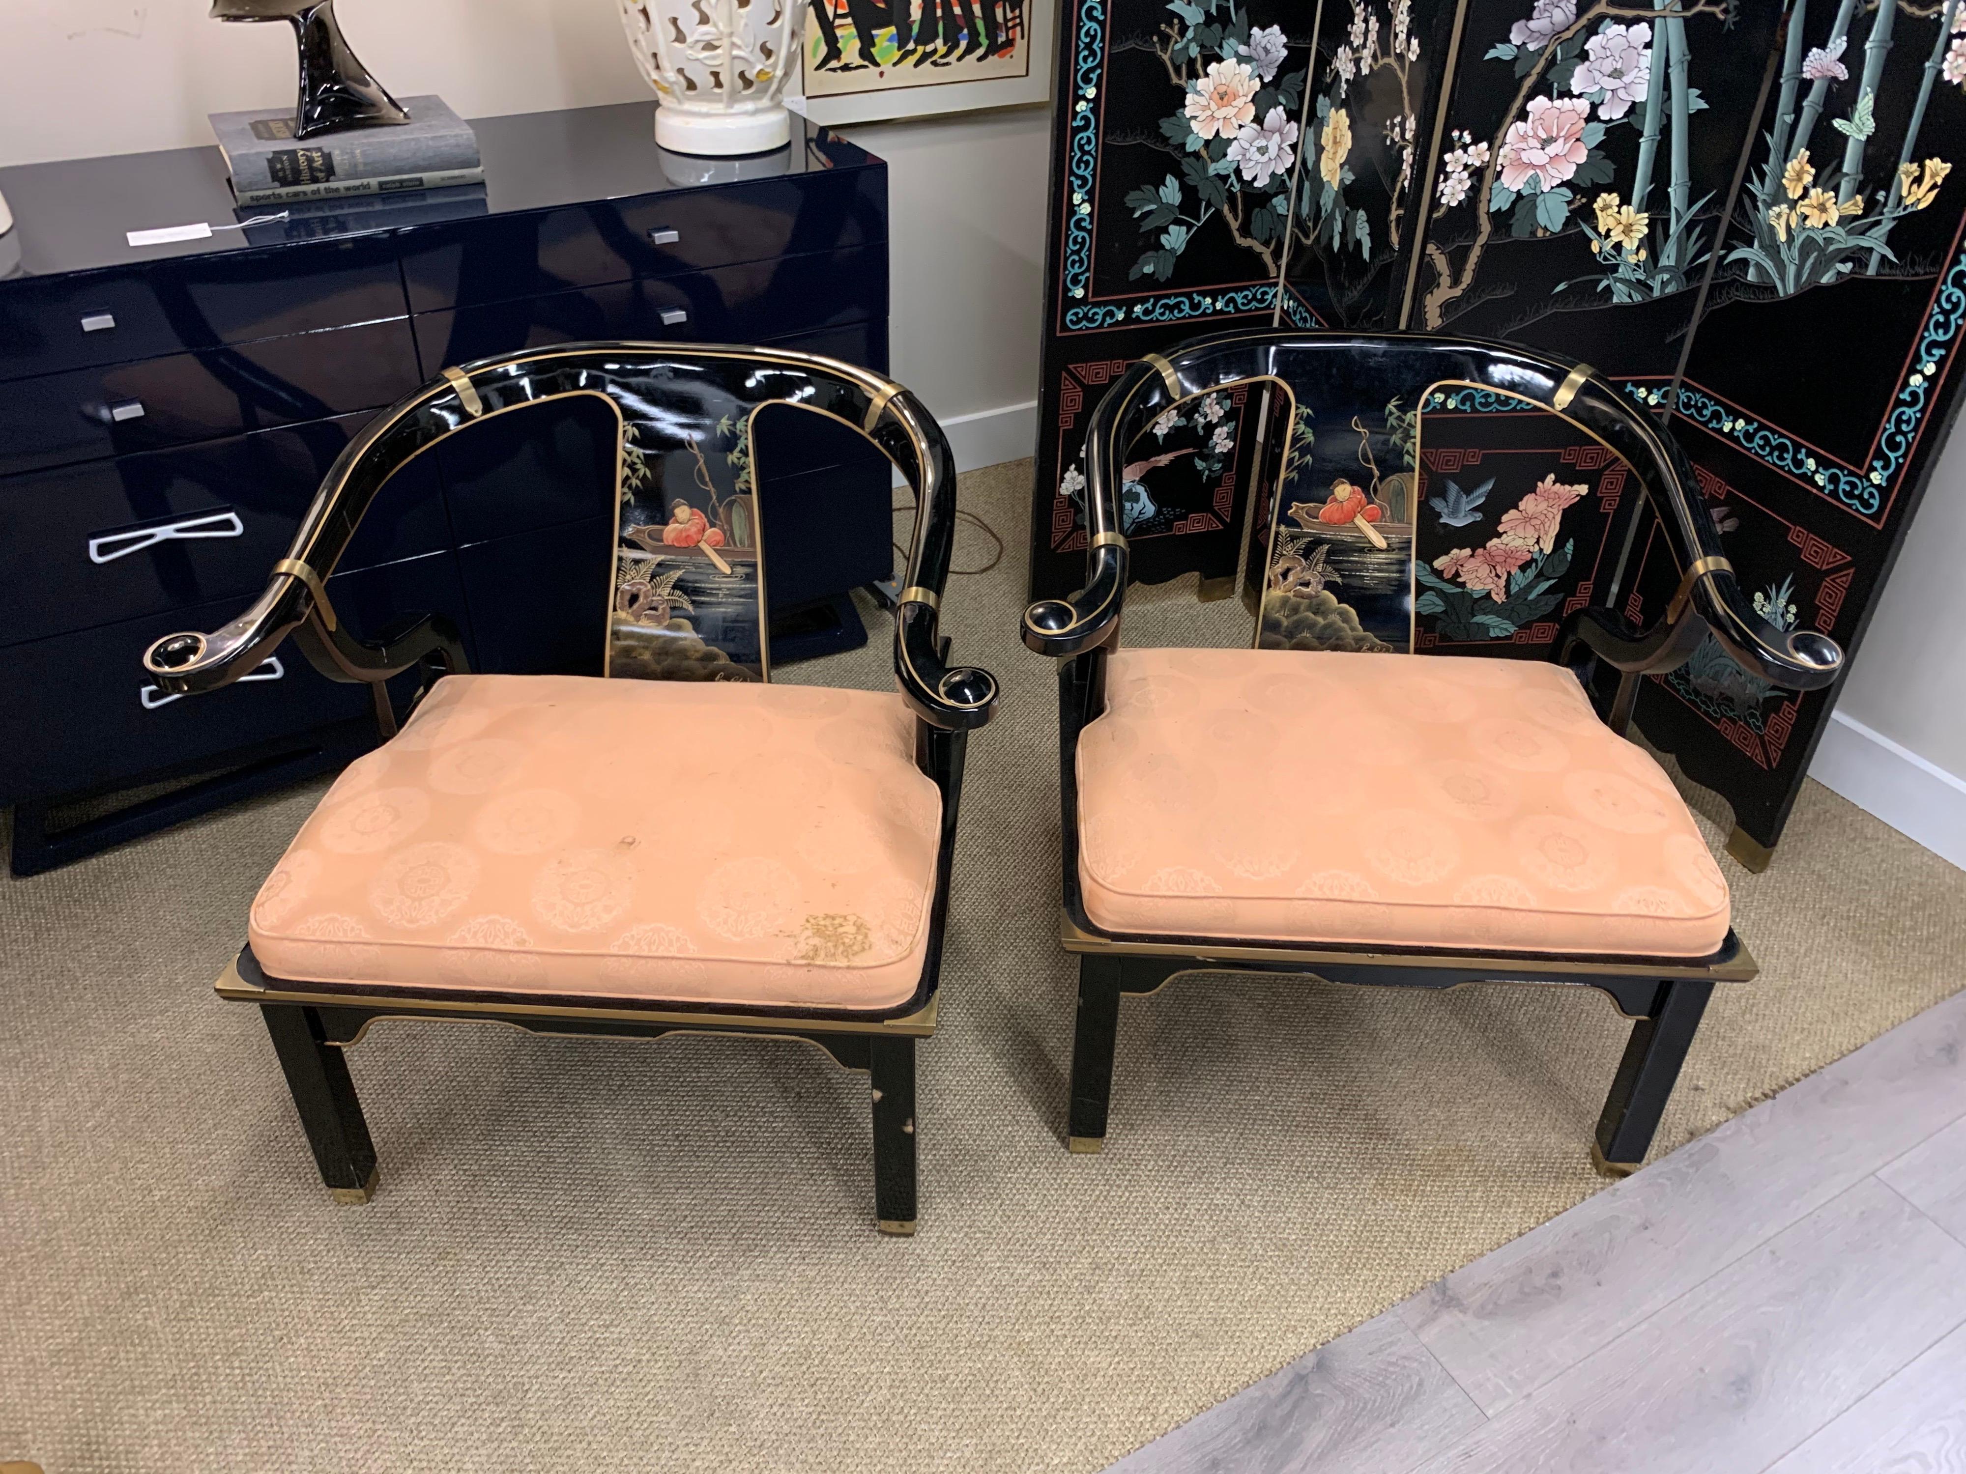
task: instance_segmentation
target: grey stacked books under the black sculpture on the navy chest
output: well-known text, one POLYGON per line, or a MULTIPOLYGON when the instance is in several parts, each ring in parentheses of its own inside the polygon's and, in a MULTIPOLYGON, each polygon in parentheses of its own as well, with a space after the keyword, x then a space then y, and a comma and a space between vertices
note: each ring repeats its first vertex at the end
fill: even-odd
POLYGON ((472 126, 434 96, 403 98, 409 122, 293 136, 293 112, 214 112, 218 151, 240 204, 399 195, 486 177, 472 126))

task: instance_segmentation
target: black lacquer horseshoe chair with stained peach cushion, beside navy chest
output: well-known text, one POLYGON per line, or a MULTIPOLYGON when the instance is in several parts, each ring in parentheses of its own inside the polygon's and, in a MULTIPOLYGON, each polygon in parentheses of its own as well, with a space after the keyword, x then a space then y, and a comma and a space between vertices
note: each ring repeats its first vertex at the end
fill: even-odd
POLYGON ((218 981, 265 1016, 336 1197, 376 1185, 342 1053, 372 1020, 777 1034, 869 1073, 875 1219, 914 1230, 914 1042, 936 1026, 963 745, 997 700, 938 633, 954 503, 928 411, 847 364, 668 344, 484 360, 350 442, 246 613, 145 652, 157 686, 197 694, 291 635, 322 674, 376 692, 387 741, 322 798, 218 981), (389 474, 572 397, 621 426, 613 566, 592 590, 611 678, 470 674, 440 615, 356 637, 326 578, 389 474), (775 405, 853 426, 914 487, 898 696, 767 682, 751 421, 775 405), (411 670, 397 731, 383 682, 411 670))

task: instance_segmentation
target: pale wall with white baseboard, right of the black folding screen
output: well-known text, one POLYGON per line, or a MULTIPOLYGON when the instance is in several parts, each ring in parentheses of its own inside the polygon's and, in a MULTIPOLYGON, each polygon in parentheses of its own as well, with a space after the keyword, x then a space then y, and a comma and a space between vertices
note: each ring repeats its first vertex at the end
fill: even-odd
POLYGON ((1938 456, 1809 772, 1966 869, 1966 434, 1938 456))

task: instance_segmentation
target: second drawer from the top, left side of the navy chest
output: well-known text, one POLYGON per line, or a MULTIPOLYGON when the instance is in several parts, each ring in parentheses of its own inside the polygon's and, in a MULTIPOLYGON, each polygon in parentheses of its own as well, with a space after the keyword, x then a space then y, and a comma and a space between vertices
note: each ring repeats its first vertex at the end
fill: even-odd
POLYGON ((409 318, 0 385, 0 476, 379 409, 421 383, 409 318))

